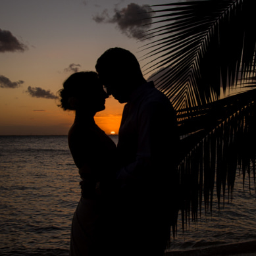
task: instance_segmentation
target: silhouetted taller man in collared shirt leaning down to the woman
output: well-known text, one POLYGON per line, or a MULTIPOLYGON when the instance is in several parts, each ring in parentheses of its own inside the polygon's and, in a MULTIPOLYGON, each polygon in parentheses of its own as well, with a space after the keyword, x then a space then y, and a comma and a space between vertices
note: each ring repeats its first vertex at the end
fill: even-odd
POLYGON ((179 136, 169 99, 147 82, 136 57, 111 48, 96 63, 109 95, 126 103, 118 134, 122 164, 116 174, 120 255, 163 255, 178 214, 176 159, 179 136))

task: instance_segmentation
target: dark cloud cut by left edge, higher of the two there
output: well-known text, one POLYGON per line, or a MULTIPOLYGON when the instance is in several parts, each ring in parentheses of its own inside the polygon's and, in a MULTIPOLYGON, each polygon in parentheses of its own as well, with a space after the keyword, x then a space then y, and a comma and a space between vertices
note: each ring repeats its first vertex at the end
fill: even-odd
POLYGON ((5 51, 25 51, 26 49, 28 47, 18 41, 10 31, 1 30, 0 28, 0 53, 5 53, 5 51))

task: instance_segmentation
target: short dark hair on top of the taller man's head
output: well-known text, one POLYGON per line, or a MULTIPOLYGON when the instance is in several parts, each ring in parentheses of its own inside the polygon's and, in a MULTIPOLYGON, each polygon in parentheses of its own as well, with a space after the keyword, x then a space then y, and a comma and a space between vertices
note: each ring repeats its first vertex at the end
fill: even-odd
POLYGON ((132 78, 143 77, 140 64, 136 57, 128 50, 119 47, 110 48, 99 59, 95 65, 97 72, 107 74, 115 71, 117 75, 128 75, 132 78))

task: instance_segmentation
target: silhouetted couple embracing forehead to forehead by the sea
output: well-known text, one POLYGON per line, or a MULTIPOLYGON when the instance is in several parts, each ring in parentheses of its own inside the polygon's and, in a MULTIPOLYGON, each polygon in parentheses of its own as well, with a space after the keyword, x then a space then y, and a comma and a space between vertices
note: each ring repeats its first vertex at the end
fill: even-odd
POLYGON ((174 109, 130 51, 105 51, 96 70, 72 74, 60 93, 76 112, 68 143, 82 178, 70 255, 163 255, 177 215, 174 109), (117 147, 94 120, 109 95, 126 103, 117 147))

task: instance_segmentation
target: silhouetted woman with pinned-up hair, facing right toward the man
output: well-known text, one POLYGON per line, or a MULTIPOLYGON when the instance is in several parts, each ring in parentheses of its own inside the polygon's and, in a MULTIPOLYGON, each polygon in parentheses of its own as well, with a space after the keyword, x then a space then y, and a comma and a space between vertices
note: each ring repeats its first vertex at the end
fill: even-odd
POLYGON ((105 109, 109 96, 97 73, 91 71, 72 74, 59 93, 59 107, 76 113, 68 145, 82 178, 82 196, 72 220, 70 256, 102 255, 111 241, 108 232, 114 218, 109 209, 113 209, 116 145, 95 124, 94 116, 105 109))

